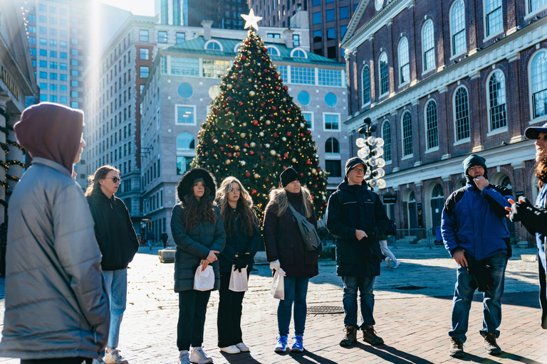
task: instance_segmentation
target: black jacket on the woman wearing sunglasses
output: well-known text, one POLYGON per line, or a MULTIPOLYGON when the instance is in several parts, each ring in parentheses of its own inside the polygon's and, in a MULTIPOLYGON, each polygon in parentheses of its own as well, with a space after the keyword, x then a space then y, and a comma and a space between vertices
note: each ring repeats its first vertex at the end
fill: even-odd
POLYGON ((125 203, 120 198, 106 197, 100 188, 86 196, 95 221, 95 237, 103 253, 103 270, 127 268, 137 250, 139 241, 125 203))

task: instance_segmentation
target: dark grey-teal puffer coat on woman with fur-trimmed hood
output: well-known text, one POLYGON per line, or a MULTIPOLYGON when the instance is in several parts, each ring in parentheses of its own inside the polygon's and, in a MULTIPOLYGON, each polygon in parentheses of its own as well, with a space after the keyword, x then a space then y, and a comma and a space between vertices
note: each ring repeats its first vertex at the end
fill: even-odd
MULTIPOLYGON (((199 262, 207 258, 209 250, 222 252, 226 244, 226 231, 220 210, 214 206, 217 223, 200 220, 191 230, 186 231, 186 209, 183 203, 174 205, 171 215, 171 232, 177 252, 174 256, 174 291, 194 289, 194 274, 199 262)), ((214 290, 220 287, 219 261, 212 264, 214 271, 214 290)))

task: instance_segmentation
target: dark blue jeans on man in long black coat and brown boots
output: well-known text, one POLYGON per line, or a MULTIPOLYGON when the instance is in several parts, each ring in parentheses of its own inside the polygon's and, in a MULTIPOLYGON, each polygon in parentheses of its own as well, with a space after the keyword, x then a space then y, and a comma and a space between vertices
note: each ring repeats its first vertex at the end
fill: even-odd
POLYGON ((342 277, 344 284, 344 296, 342 303, 344 305, 344 325, 355 326, 357 324, 357 291, 360 291, 361 298, 361 323, 363 326, 374 325, 374 276, 367 277, 342 277))

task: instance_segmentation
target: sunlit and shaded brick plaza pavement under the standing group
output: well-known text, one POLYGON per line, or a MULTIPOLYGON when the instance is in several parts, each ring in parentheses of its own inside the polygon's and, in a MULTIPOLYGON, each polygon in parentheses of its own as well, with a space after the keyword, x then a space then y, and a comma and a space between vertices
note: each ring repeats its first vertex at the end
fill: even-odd
MULTIPOLYGON (((486 354, 479 335, 481 301, 474 301, 463 360, 448 355, 450 311, 456 264, 444 247, 400 247, 393 252, 402 264, 388 269, 375 283, 375 328, 386 345, 373 347, 358 336, 351 348, 338 345, 343 336, 343 314, 308 314, 304 335, 305 353, 273 353, 277 335, 277 300, 269 293, 271 275, 267 265, 258 265, 244 299, 242 326, 250 353, 228 355, 217 348, 217 303, 214 292, 205 324, 204 350, 214 363, 547 363, 547 331, 539 326, 537 262, 522 262, 520 254, 533 249, 516 249, 506 271, 501 336, 504 354, 486 354)), ((120 346, 132 364, 177 363, 177 295, 172 291, 173 264, 162 264, 157 248, 141 248, 130 264, 120 346)), ((0 279, 0 322, 4 312, 4 279, 0 279)), ((478 295, 475 296, 479 298, 478 295)), ((320 274, 311 279, 308 309, 313 306, 342 306, 340 278, 335 262, 321 260, 320 274)), ((291 326, 292 330, 292 326, 291 326)), ((0 359, 0 363, 19 360, 0 359)))

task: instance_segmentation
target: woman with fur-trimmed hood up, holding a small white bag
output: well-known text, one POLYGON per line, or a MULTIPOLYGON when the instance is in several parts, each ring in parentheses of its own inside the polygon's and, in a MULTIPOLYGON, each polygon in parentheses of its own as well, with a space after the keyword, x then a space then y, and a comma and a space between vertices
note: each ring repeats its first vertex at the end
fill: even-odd
POLYGON ((216 190, 213 176, 204 168, 192 168, 177 184, 179 203, 174 205, 171 215, 171 233, 177 245, 174 291, 179 294, 177 347, 180 364, 213 362, 203 352, 202 343, 207 303, 211 291, 220 286, 217 254, 226 243, 220 210, 213 203, 216 190), (194 289, 196 270, 204 271, 209 264, 214 271, 213 289, 194 289))

